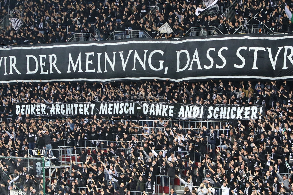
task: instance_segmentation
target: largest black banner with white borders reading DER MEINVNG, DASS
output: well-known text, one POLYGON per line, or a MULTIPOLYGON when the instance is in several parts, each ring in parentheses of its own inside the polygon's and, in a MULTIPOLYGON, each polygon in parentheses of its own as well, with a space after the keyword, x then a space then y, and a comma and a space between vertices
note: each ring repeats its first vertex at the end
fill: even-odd
POLYGON ((292 36, 223 35, 2 48, 0 82, 291 79, 292 45, 292 36))

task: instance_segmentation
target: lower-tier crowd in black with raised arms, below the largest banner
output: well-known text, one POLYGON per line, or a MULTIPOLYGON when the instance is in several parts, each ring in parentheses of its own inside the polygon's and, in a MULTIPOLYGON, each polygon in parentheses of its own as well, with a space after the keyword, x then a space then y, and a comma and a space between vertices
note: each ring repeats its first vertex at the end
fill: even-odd
POLYGON ((0 150, 1 156, 8 156, 0 161, 0 188, 5 194, 16 186, 28 195, 43 194, 40 186, 45 182, 47 195, 130 195, 134 191, 150 195, 155 183, 168 186, 170 182, 170 194, 175 195, 177 179, 185 186, 184 195, 217 195, 218 188, 222 195, 293 194, 293 100, 286 81, 40 81, 2 84, 0 94, 0 150), (131 116, 78 116, 47 122, 29 114, 14 116, 11 107, 16 102, 115 100, 266 104, 266 115, 258 121, 229 121, 224 126, 131 116), (46 149, 45 154, 59 165, 59 146, 66 146, 72 169, 56 169, 56 177, 48 181, 29 175, 21 159, 9 158, 30 157, 29 149, 46 149), (76 155, 77 162, 71 158, 76 155))

